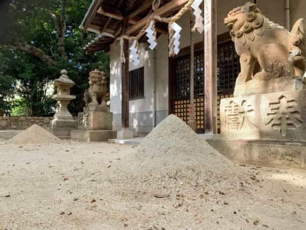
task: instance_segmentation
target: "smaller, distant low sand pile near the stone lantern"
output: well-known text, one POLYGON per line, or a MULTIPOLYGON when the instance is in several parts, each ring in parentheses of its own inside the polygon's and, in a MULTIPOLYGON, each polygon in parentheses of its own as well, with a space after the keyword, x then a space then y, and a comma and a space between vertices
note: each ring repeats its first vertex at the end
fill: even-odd
POLYGON ((38 125, 32 125, 10 139, 7 144, 47 144, 59 143, 60 139, 38 125))

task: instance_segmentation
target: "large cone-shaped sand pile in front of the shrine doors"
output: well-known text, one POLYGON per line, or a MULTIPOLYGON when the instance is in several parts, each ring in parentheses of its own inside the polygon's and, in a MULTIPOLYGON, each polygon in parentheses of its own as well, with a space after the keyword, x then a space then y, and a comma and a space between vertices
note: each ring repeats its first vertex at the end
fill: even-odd
POLYGON ((113 170, 111 181, 123 183, 122 187, 129 183, 136 191, 228 192, 241 189, 241 182, 247 180, 244 171, 174 115, 152 130, 135 154, 122 159, 113 170))

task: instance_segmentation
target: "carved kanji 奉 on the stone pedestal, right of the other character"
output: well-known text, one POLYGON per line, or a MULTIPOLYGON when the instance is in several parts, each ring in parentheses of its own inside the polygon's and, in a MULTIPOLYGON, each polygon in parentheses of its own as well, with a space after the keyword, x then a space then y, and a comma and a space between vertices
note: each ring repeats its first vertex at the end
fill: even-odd
POLYGON ((287 135, 287 130, 295 130, 303 124, 297 101, 281 96, 277 102, 272 102, 269 106, 269 122, 266 125, 281 132, 283 137, 287 135))

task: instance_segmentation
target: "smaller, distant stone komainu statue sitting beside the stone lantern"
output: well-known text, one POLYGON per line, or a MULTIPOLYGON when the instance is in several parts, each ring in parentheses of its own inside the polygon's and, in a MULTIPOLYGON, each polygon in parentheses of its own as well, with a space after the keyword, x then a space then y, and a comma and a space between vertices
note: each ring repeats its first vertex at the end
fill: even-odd
POLYGON ((107 110, 106 91, 107 91, 106 74, 102 71, 94 70, 89 73, 89 88, 85 90, 84 112, 107 110))

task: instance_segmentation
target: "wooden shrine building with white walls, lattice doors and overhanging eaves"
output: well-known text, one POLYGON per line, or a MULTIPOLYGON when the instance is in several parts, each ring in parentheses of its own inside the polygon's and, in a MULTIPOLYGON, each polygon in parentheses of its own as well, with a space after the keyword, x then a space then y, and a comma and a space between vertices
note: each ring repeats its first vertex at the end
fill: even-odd
MULTIPOLYGON (((194 22, 191 20, 190 11, 185 12, 176 21, 182 28, 180 51, 172 57, 169 57, 168 25, 156 21, 157 46, 154 50, 149 49, 146 36, 142 36, 138 47, 139 63, 135 66, 133 60, 128 58, 132 41, 123 41, 122 57, 120 41, 117 38, 121 35, 136 36, 152 15, 173 16, 188 0, 155 1, 158 4, 157 9, 152 9, 152 2, 93 0, 80 26, 97 34, 97 37, 86 45, 87 53, 104 51, 110 55, 110 111, 113 113, 113 129, 130 129, 135 134, 149 133, 171 113, 188 122, 191 34, 194 33, 193 112, 196 132, 220 133, 220 100, 233 97, 235 82, 241 71, 239 56, 235 51, 230 30, 224 24, 224 18, 233 8, 243 6, 246 1, 203 1, 211 3, 206 8, 211 11, 205 15, 208 16, 204 20, 205 32, 201 34, 198 31, 191 32, 194 22), (206 45, 205 36, 208 38, 206 45), (205 60, 205 57, 208 59, 205 60), (125 58, 124 63, 122 58, 125 58), (206 65, 211 66, 212 70, 206 70, 206 65), (214 66, 217 66, 216 70, 214 66), (208 89, 205 84, 209 84, 208 89)), ((306 15, 304 0, 253 2, 270 21, 284 26, 289 31, 295 21, 306 15)), ((204 9, 202 5, 200 9, 204 9)))

